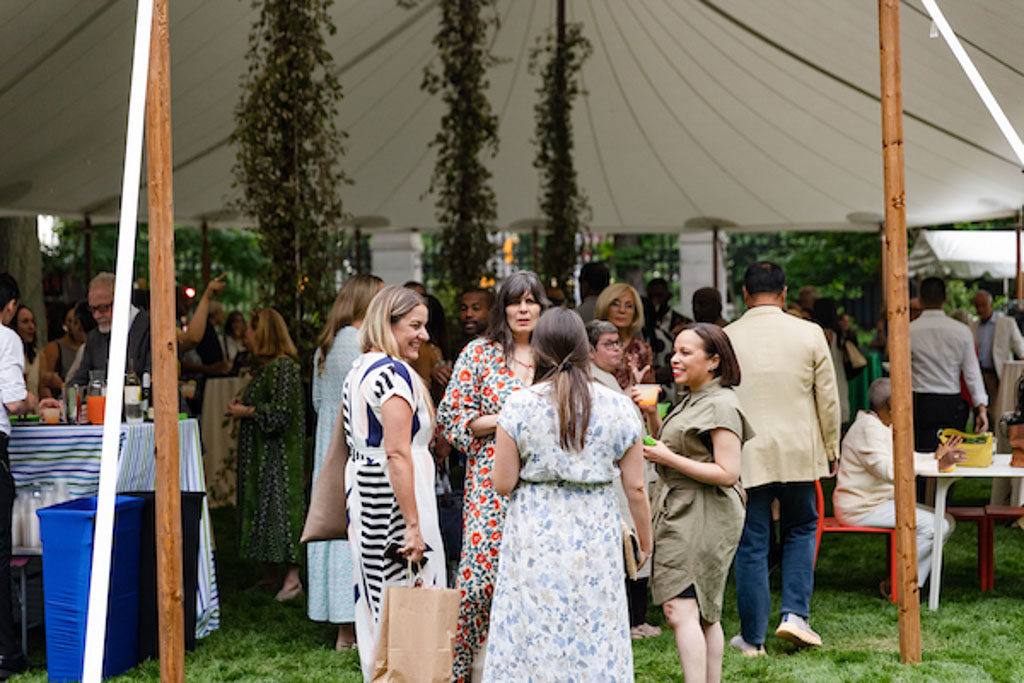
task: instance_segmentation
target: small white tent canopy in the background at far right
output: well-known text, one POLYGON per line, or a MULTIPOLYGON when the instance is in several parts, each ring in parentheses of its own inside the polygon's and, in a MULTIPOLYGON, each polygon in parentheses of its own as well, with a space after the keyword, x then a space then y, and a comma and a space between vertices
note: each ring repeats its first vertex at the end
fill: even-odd
POLYGON ((911 278, 1017 276, 1015 230, 922 230, 907 257, 911 278))

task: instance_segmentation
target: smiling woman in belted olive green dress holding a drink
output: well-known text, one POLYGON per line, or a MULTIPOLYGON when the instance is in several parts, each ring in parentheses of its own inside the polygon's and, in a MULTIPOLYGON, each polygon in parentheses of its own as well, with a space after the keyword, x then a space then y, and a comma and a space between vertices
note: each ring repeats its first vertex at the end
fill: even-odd
POLYGON ((651 597, 676 632, 686 680, 719 681, 722 598, 745 516, 739 452, 754 431, 731 388, 739 384, 739 365, 720 328, 684 328, 672 375, 687 391, 666 416, 660 440, 644 446, 660 477, 652 506, 651 597))

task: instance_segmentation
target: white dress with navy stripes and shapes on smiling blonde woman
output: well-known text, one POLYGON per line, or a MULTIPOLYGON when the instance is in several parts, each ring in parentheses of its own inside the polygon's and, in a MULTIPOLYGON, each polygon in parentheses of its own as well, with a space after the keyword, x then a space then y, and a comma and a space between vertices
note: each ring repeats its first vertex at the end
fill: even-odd
POLYGON ((381 409, 394 396, 414 409, 413 486, 420 532, 427 546, 424 554, 427 562, 420 575, 424 586, 444 587, 444 550, 437 525, 434 461, 429 450, 433 424, 423 384, 409 364, 380 352, 364 353, 345 378, 342 407, 349 450, 345 494, 355 587, 355 637, 367 681, 373 678, 385 590, 404 584, 408 573, 404 562, 384 556, 388 546, 404 545, 406 531, 383 447, 381 409))

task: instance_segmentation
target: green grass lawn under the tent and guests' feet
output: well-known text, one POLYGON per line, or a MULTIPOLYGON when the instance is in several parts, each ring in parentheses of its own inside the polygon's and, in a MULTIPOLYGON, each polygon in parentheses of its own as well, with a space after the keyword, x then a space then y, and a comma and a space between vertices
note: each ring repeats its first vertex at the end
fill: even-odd
MULTIPOLYGON (((984 504, 987 480, 968 479, 953 486, 952 504, 984 504)), ((189 681, 359 681, 358 655, 335 652, 336 629, 305 617, 297 599, 279 604, 272 596, 246 588, 259 578, 259 567, 240 560, 234 548, 234 511, 214 513, 217 571, 220 580, 221 628, 201 640, 187 655, 189 681)), ((945 546, 942 599, 931 612, 922 604, 924 663, 899 664, 896 605, 879 595, 886 575, 885 541, 860 535, 826 535, 818 557, 811 625, 824 645, 796 652, 769 635, 768 656, 749 659, 726 647, 723 677, 727 681, 1024 681, 1024 531, 995 529, 995 590, 982 595, 976 574, 976 525, 963 523, 945 546)), ((777 574, 770 629, 777 624, 777 574)), ((650 620, 665 624, 657 608, 650 620)), ((739 630, 735 592, 730 581, 723 617, 726 640, 739 630)), ((675 641, 634 641, 638 681, 682 681, 675 641)), ((46 680, 43 642, 31 637, 34 671, 17 683, 46 680)), ((150 660, 116 681, 159 680, 150 660)))

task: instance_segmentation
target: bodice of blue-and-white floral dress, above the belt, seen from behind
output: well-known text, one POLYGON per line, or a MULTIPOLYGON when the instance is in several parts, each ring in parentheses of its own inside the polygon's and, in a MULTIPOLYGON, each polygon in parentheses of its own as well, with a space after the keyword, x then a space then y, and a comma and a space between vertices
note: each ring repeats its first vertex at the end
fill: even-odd
POLYGON ((560 444, 551 388, 549 382, 543 382, 516 391, 498 418, 519 450, 519 478, 534 483, 610 483, 618 476, 616 463, 643 434, 632 401, 591 383, 590 425, 584 447, 579 453, 568 452, 560 444))

